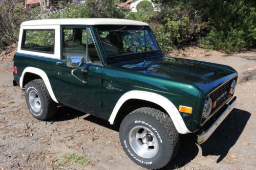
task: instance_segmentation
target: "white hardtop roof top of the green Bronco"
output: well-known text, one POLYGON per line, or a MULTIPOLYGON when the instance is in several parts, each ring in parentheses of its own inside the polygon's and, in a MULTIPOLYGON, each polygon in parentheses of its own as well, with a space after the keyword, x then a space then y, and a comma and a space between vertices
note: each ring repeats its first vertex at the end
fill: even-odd
POLYGON ((69 19, 41 19, 30 20, 22 23, 21 26, 49 26, 49 25, 133 25, 133 26, 148 26, 145 22, 128 20, 128 19, 113 19, 113 18, 69 18, 69 19))

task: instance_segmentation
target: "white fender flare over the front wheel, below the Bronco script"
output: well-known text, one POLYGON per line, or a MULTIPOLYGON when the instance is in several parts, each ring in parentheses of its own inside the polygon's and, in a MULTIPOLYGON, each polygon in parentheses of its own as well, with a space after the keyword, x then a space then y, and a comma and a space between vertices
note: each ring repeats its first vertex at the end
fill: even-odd
POLYGON ((121 98, 118 100, 109 118, 110 124, 112 125, 114 124, 114 120, 116 118, 116 115, 119 109, 124 104, 124 102, 130 99, 144 100, 144 101, 152 102, 161 106, 168 113, 170 118, 172 118, 174 126, 180 134, 191 133, 187 129, 178 109, 174 106, 172 102, 170 102, 168 99, 166 99, 162 95, 159 95, 153 92, 139 91, 139 90, 132 90, 132 91, 126 92, 121 96, 121 98))

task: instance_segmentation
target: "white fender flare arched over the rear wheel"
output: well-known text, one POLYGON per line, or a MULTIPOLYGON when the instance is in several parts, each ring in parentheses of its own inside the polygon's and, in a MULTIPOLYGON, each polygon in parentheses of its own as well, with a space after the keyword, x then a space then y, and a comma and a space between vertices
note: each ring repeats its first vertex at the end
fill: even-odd
POLYGON ((42 78, 42 80, 44 80, 45 82, 45 85, 46 85, 46 88, 52 98, 52 100, 56 103, 58 103, 57 99, 55 98, 55 95, 53 93, 53 90, 52 90, 52 86, 50 84, 50 81, 45 73, 45 71, 39 69, 39 68, 35 68, 35 67, 26 67, 23 72, 22 72, 22 76, 20 77, 19 79, 19 86, 20 88, 23 88, 23 80, 24 80, 24 76, 26 74, 26 72, 31 72, 33 74, 36 74, 38 76, 40 76, 42 78))

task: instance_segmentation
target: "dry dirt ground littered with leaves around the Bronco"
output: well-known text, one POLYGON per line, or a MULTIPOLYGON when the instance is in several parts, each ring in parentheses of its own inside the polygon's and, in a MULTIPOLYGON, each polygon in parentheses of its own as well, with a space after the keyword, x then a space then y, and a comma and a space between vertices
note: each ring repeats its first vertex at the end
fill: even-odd
MULTIPOLYGON (((0 57, 0 170, 144 169, 125 155, 118 127, 108 121, 67 107, 59 107, 51 122, 33 118, 24 93, 12 86, 14 52, 0 57), (71 154, 87 164, 68 161, 71 154)), ((165 169, 255 169, 256 52, 224 55, 189 47, 170 55, 230 65, 239 81, 236 109, 202 145, 195 135, 182 135, 180 152, 165 169)))

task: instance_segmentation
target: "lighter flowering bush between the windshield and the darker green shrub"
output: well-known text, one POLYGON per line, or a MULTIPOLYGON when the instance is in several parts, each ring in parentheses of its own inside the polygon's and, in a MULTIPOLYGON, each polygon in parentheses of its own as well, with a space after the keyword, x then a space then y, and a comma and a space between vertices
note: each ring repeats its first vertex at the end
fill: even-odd
POLYGON ((181 46, 197 40, 199 33, 207 25, 191 1, 157 1, 160 9, 161 27, 157 35, 163 52, 167 53, 172 46, 181 46))

